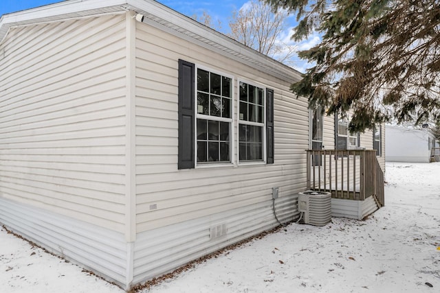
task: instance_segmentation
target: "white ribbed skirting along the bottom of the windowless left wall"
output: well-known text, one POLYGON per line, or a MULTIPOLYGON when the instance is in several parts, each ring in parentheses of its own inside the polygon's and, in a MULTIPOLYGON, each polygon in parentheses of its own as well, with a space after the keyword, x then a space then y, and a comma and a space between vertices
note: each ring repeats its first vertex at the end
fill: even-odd
POLYGON ((51 253, 126 285, 123 233, 4 198, 0 198, 0 222, 51 253))

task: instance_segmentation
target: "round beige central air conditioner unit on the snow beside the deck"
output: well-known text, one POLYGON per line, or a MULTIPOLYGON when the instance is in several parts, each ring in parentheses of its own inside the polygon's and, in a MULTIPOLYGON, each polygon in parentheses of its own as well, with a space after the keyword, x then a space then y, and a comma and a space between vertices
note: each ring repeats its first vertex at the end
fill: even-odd
POLYGON ((305 224, 325 226, 331 221, 331 194, 313 190, 300 192, 298 211, 303 212, 305 224))

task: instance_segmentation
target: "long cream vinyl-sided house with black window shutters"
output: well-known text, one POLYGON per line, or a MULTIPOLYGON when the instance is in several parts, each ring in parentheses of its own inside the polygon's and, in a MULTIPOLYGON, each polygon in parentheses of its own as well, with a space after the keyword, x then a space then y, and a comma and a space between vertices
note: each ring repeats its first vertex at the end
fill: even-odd
POLYGON ((294 220, 312 141, 384 149, 299 79, 153 0, 5 14, 0 223, 128 289, 294 220))

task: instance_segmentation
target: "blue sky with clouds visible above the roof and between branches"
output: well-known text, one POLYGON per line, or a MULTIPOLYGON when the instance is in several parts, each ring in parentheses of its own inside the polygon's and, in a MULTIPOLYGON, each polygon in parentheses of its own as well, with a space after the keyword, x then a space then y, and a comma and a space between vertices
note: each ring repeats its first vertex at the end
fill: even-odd
MULTIPOLYGON (((0 0, 0 16, 57 2, 61 2, 61 0, 0 0)), ((248 0, 158 0, 158 2, 187 16, 200 17, 203 15, 203 12, 207 12, 211 16, 214 27, 218 27, 218 21, 221 22, 220 31, 225 34, 229 30, 228 23, 232 12, 239 10, 248 0)), ((294 16, 289 17, 289 21, 292 23, 292 27, 296 25, 294 16)), ((286 30, 285 36, 292 34, 292 27, 286 30)), ((316 45, 316 43, 319 43, 319 40, 320 37, 318 34, 315 34, 308 40, 295 45, 298 46, 298 49, 309 49, 316 45)), ((305 72, 307 65, 303 60, 294 58, 293 67, 301 72, 305 72)))

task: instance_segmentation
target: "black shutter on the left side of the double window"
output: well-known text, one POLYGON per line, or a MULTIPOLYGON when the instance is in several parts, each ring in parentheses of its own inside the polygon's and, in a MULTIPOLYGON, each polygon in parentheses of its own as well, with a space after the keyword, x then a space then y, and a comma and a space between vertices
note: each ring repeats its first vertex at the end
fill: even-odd
POLYGON ((194 64, 179 59, 179 169, 194 168, 194 64))

